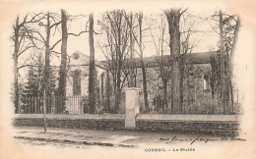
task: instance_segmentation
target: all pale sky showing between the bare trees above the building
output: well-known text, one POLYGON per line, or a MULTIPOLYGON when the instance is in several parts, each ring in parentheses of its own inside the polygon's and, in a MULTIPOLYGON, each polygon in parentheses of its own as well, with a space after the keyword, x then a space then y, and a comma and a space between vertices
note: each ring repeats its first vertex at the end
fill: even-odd
MULTIPOLYGON (((86 17, 80 18, 78 20, 68 22, 68 32, 73 33, 79 33, 82 30, 86 29, 86 24, 89 19, 89 13, 84 12, 83 10, 66 10, 68 15, 71 16, 77 16, 77 15, 85 15, 86 17)), ((38 13, 38 11, 34 11, 35 13, 38 13)), ((56 12, 59 12, 57 10, 56 12)), ((190 15, 193 15, 189 21, 186 23, 185 27, 189 26, 189 24, 194 23, 194 28, 198 30, 197 33, 194 33, 190 39, 191 41, 198 42, 197 46, 193 49, 193 52, 207 52, 210 51, 210 48, 214 50, 217 50, 217 43, 219 40, 218 33, 214 32, 212 27, 209 25, 209 22, 202 21, 202 18, 208 17, 210 15, 213 15, 215 10, 193 10, 188 8, 187 12, 190 15)), ((95 12, 95 30, 99 31, 100 26, 97 25, 97 21, 101 21, 101 16, 104 11, 98 11, 95 12)), ((163 12, 161 9, 156 9, 154 11, 146 11, 144 12, 144 22, 143 22, 143 28, 146 27, 152 27, 157 28, 160 25, 160 15, 162 15, 163 12)), ((186 14, 185 16, 187 16, 186 14)), ((21 18, 23 18, 23 15, 20 15, 21 18)), ((214 25, 215 22, 211 22, 212 25, 214 25)), ((181 18, 181 24, 183 24, 183 19, 181 18)), ((186 29, 186 28, 185 28, 186 29)), ((40 30, 42 33, 44 33, 44 29, 40 30)), ((158 28, 153 29, 153 34, 155 38, 158 35, 158 28)), ((61 38, 61 32, 57 32, 54 36, 51 36, 51 45, 55 43, 58 39, 61 38)), ((168 32, 167 32, 167 26, 166 26, 166 36, 164 37, 166 41, 168 41, 168 32)), ((104 54, 101 52, 101 50, 98 48, 97 41, 101 42, 105 39, 104 32, 102 34, 95 34, 95 50, 96 50, 96 60, 105 60, 104 54)), ((153 38, 150 33, 150 30, 145 31, 145 37, 143 39, 145 42, 145 50, 144 50, 144 56, 155 56, 156 49, 153 43, 153 38)), ((55 47, 55 51, 60 52, 60 46, 61 42, 55 47)), ((12 48, 11 48, 12 49, 12 48)), ((165 45, 165 54, 169 54, 167 44, 165 45)), ((83 33, 81 36, 73 36, 69 35, 68 37, 68 54, 71 55, 76 50, 79 50, 86 55, 90 55, 90 48, 89 48, 89 33, 83 33)), ((44 55, 43 55, 44 56, 44 55)), ((28 56, 26 54, 22 57, 24 60, 27 59, 28 56)), ((20 63, 23 60, 21 59, 20 63)), ((58 66, 60 62, 60 58, 54 58, 52 56, 51 58, 51 65, 58 66)), ((24 69, 25 71, 25 69, 24 69)))

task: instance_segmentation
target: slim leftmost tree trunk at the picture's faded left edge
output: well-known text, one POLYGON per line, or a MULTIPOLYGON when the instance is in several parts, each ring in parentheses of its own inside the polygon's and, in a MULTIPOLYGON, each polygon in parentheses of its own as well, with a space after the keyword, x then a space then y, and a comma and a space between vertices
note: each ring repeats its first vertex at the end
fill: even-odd
POLYGON ((18 81, 18 52, 19 52, 19 16, 16 19, 16 26, 14 28, 14 105, 15 113, 19 113, 19 81, 18 81))

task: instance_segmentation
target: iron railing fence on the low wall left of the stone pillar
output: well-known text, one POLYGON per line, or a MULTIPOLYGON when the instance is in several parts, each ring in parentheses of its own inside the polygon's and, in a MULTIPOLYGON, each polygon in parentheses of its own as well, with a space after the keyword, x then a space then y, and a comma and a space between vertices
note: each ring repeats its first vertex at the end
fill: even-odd
POLYGON ((47 114, 124 114, 124 105, 114 109, 105 99, 95 101, 95 107, 89 105, 88 96, 30 96, 22 97, 20 114, 42 114, 45 101, 47 114))

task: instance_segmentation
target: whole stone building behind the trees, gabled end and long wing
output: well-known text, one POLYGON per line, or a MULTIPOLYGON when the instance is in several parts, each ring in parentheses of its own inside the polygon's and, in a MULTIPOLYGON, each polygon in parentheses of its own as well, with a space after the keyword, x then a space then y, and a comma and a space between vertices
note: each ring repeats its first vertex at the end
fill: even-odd
MULTIPOLYGON (((216 55, 217 52, 203 52, 203 53, 191 53, 187 56, 183 56, 184 61, 184 74, 183 74, 183 105, 184 107, 195 103, 196 101, 211 99, 211 57, 216 55)), ((148 84, 148 98, 149 105, 152 111, 157 110, 157 102, 162 101, 163 97, 163 83, 160 78, 160 63, 159 57, 145 57, 144 63, 146 67, 147 84, 148 84)), ((168 60, 170 56, 163 57, 165 60, 165 67, 169 67, 168 60)), ((83 96, 88 95, 88 82, 89 82, 89 56, 76 51, 72 54, 69 63, 68 77, 67 77, 67 96, 82 96, 79 101, 76 101, 75 109, 74 101, 67 101, 67 109, 70 113, 76 114, 83 113, 82 102, 83 96), (73 112, 72 112, 73 111, 73 112)), ((139 59, 134 59, 137 68, 136 75, 136 87, 140 87, 143 90, 142 69, 139 59)), ((124 107, 125 88, 128 87, 129 78, 125 81, 121 94, 121 107, 124 107)), ((105 110, 106 107, 113 107, 113 92, 110 91, 109 106, 106 106, 106 89, 110 86, 111 89, 111 76, 108 73, 106 61, 96 61, 96 94, 98 104, 97 109, 99 111, 105 110), (107 76, 109 79, 107 80, 107 76), (107 82, 108 81, 108 82, 107 82), (98 108, 99 107, 99 108, 98 108)), ((167 82, 167 105, 171 104, 171 78, 167 82)), ((109 90, 108 90, 109 91, 109 90)), ((143 93, 143 91, 142 91, 143 93)), ((143 110, 144 100, 141 93, 141 107, 143 110)), ((207 101, 205 101, 207 102, 207 101)), ((186 108, 182 108, 185 111, 186 108)))

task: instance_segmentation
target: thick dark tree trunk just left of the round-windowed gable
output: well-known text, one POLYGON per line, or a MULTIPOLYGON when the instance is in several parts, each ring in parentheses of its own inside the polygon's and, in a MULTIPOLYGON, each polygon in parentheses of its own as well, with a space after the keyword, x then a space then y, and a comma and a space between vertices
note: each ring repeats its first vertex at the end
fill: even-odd
MULTIPOLYGON (((67 84, 67 42, 68 42, 68 30, 67 30, 67 13, 61 9, 61 27, 62 27, 62 44, 61 44, 61 64, 59 70, 59 95, 64 99, 66 97, 66 84, 67 84)), ((57 107, 57 113, 63 113, 66 107, 64 101, 60 107, 57 107)))

